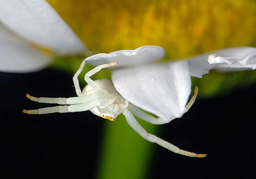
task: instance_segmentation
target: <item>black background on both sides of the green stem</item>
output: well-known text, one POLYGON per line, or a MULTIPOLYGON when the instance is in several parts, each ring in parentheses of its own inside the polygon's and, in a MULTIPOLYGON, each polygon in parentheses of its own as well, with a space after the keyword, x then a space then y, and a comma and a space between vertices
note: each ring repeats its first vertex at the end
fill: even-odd
MULTIPOLYGON (((49 106, 28 100, 26 93, 76 96, 72 77, 51 69, 0 73, 0 178, 95 177, 105 120, 91 112, 21 112, 49 106)), ((159 137, 188 151, 196 146, 208 156, 185 157, 155 145, 151 163, 145 166, 150 178, 255 178, 255 94, 256 85, 222 97, 199 98, 181 119, 162 125, 159 137)))

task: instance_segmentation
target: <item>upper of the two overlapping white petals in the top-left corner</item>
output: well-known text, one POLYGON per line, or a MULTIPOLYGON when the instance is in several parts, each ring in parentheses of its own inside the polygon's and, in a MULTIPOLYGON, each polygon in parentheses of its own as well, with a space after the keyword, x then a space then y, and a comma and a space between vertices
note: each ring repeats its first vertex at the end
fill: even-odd
POLYGON ((44 0, 1 0, 0 21, 21 37, 53 51, 85 51, 76 34, 44 0))

